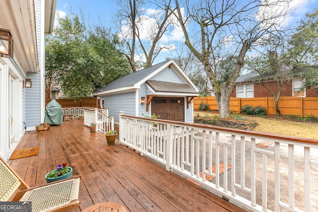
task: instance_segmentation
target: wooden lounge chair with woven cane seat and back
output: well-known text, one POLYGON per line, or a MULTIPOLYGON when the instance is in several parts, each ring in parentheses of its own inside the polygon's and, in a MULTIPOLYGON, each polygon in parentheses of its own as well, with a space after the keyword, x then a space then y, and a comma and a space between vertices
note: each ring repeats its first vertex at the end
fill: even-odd
POLYGON ((0 157, 0 201, 32 202, 32 212, 68 212, 79 207, 80 176, 30 188, 0 157))

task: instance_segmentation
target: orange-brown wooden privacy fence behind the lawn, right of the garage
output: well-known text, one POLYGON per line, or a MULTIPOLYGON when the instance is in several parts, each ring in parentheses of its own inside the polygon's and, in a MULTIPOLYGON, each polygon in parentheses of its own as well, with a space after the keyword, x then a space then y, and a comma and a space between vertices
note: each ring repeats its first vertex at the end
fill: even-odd
MULTIPOLYGON (((209 105, 209 110, 219 110, 214 96, 204 96, 194 98, 194 109, 198 109, 200 103, 209 105)), ((276 115, 275 101, 273 97, 260 98, 233 98, 230 100, 230 110, 239 113, 245 105, 258 106, 266 108, 267 115, 276 115)), ((279 98, 278 107, 281 115, 296 116, 318 116, 318 97, 294 97, 284 96, 279 98)))

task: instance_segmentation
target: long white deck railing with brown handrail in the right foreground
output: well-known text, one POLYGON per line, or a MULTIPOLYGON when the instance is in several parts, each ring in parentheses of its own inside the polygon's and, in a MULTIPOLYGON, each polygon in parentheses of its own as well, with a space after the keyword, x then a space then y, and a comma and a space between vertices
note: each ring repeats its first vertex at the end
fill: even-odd
POLYGON ((121 144, 245 210, 318 211, 318 140, 127 116, 123 111, 119 129, 121 144), (261 141, 272 145, 256 146, 261 141))

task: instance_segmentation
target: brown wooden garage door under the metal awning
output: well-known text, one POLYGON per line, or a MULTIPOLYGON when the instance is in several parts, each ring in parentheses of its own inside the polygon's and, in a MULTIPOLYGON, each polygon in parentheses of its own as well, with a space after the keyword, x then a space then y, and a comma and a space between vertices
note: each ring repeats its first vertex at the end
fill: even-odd
POLYGON ((159 119, 184 122, 184 98, 155 97, 151 113, 160 116, 159 119))

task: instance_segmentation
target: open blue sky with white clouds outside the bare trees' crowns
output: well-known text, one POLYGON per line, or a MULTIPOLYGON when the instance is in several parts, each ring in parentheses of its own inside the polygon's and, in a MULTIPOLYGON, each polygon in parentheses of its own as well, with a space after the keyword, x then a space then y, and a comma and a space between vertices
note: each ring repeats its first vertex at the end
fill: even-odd
MULTIPOLYGON (((307 12, 311 12, 314 8, 318 7, 318 0, 294 0, 292 5, 296 9, 294 14, 285 20, 286 24, 295 24, 300 21, 307 12)), ((114 29, 113 16, 116 15, 116 10, 118 9, 116 0, 58 0, 57 3, 57 12, 62 17, 70 15, 71 10, 79 14, 79 8, 82 8, 85 18, 89 18, 90 21, 96 23, 99 23, 100 19, 101 24, 114 29)), ((147 27, 151 26, 151 21, 144 25, 146 25, 145 30, 147 30, 147 27)), ((170 45, 172 45, 171 49, 177 49, 178 43, 183 41, 183 33, 180 30, 174 30, 167 33, 161 41, 162 45, 165 45, 164 42, 170 42, 170 45)), ((172 52, 169 53, 168 51, 164 54, 160 53, 159 56, 164 55, 164 57, 158 57, 155 64, 164 61, 165 57, 172 57, 172 54, 172 52)))

